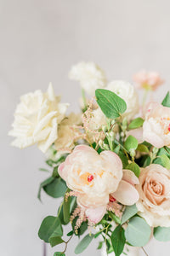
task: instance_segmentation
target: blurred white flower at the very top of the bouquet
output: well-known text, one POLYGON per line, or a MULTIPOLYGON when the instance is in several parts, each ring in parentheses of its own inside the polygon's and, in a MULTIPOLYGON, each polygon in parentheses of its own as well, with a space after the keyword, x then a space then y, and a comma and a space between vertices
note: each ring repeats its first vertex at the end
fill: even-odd
POLYGON ((80 62, 71 67, 69 78, 80 82, 82 88, 90 96, 95 95, 95 90, 104 88, 106 78, 104 71, 94 62, 80 62))

